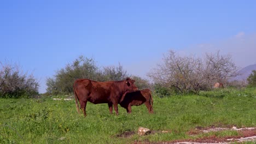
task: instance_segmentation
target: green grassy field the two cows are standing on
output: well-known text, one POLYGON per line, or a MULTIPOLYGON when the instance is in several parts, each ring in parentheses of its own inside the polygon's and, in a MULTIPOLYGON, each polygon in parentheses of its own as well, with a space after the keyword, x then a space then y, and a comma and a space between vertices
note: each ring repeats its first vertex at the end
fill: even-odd
MULTIPOLYGON (((133 106, 128 115, 119 106, 119 116, 110 115, 107 104, 88 103, 88 116, 78 115, 74 100, 0 99, 0 143, 134 143, 195 139, 187 134, 195 127, 256 126, 256 89, 218 89, 200 95, 155 94, 154 114, 146 106, 133 106), (155 130, 146 136, 138 127, 155 130), (158 133, 167 130, 171 133, 158 133)), ((209 134, 208 134, 209 135, 209 134)), ((224 131, 219 136, 237 135, 224 131)))

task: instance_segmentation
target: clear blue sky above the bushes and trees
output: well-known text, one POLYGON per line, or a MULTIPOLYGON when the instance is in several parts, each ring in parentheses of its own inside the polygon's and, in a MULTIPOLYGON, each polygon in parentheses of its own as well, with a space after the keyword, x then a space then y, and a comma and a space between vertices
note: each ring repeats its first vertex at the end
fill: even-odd
POLYGON ((33 73, 40 93, 80 55, 144 77, 170 49, 193 53, 208 44, 232 54, 224 49, 240 38, 238 51, 256 50, 256 1, 10 0, 0 2, 0 20, 0 61, 33 73))

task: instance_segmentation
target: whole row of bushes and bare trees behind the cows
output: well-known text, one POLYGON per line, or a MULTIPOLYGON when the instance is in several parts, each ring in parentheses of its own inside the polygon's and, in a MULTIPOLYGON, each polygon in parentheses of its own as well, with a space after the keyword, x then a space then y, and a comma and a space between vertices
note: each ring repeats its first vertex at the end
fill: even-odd
MULTIPOLYGON (((148 73, 154 84, 142 77, 127 74, 123 66, 98 67, 93 58, 79 56, 72 63, 56 71, 46 80, 45 95, 66 95, 73 93, 76 79, 95 81, 119 81, 126 77, 136 80, 139 89, 150 88, 162 96, 170 94, 199 94, 210 91, 213 83, 222 82, 226 86, 245 87, 247 82, 229 82, 228 77, 236 76, 237 67, 231 56, 206 53, 205 58, 179 56, 170 50, 163 62, 148 73)), ((1 62, 0 62, 1 63, 1 62)), ((0 69, 0 98, 32 98, 38 96, 39 83, 34 76, 22 73, 19 67, 2 64, 0 69)), ((255 86, 255 71, 248 77, 249 87, 255 86)))

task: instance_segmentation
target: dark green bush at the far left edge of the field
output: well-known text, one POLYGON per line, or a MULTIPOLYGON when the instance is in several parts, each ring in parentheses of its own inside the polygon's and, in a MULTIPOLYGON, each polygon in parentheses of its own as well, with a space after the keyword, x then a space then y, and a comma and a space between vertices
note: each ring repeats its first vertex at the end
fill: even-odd
POLYGON ((38 95, 38 86, 38 81, 32 74, 22 73, 17 65, 1 63, 1 98, 31 98, 38 95))

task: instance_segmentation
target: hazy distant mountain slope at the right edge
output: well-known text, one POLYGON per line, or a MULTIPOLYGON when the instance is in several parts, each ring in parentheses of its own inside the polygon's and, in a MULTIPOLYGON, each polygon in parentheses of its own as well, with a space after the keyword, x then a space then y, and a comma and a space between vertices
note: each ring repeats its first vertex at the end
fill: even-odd
POLYGON ((241 74, 241 75, 238 75, 236 77, 232 77, 232 79, 230 79, 230 81, 247 80, 248 76, 252 73, 252 70, 256 70, 256 64, 248 65, 247 67, 245 67, 241 70, 238 70, 238 74, 241 74))

